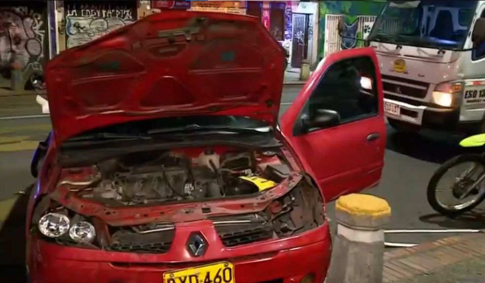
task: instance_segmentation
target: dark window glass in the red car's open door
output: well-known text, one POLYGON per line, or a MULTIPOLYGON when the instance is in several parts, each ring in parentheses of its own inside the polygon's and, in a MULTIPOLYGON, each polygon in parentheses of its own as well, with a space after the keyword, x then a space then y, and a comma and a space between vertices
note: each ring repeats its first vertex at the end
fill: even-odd
POLYGON ((374 63, 370 57, 354 57, 331 65, 312 93, 307 111, 333 110, 340 124, 378 114, 379 98, 374 63))

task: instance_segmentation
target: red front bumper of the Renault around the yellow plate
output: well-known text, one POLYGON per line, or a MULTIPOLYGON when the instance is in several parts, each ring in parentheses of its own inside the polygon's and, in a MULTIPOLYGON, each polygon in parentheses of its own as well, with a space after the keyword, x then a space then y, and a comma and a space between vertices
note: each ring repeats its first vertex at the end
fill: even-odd
MULTIPOLYGON (((166 255, 82 250, 32 237, 29 277, 32 283, 162 283, 164 272, 227 260, 234 264, 235 283, 298 283, 308 274, 315 276, 315 283, 322 283, 330 261, 330 245, 327 223, 298 237, 226 249, 233 256, 218 256, 208 250, 201 258, 186 260, 178 256, 168 259, 166 255)), ((217 243, 213 248, 220 249, 217 243)))

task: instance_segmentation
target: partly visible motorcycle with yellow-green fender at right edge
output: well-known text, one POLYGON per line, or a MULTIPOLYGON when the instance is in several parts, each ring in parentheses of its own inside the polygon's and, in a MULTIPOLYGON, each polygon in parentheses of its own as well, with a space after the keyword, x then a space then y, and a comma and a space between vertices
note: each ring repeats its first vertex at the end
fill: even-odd
MULTIPOLYGON (((462 147, 485 145, 485 134, 468 137, 460 142, 462 147)), ((429 180, 427 187, 429 205, 438 213, 453 217, 472 210, 485 199, 485 152, 465 153, 451 158, 441 165, 429 180), (463 168, 462 168, 463 167, 463 168), (441 186, 449 172, 452 184, 441 186), (455 204, 445 204, 437 193, 450 191, 455 204)))

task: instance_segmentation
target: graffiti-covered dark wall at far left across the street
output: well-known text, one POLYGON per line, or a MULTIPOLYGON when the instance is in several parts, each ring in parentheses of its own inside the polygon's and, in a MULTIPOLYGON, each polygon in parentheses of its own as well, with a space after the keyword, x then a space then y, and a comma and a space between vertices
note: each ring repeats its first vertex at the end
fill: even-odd
POLYGON ((19 2, 2 1, 0 6, 2 86, 9 84, 12 68, 22 71, 19 80, 25 85, 32 73, 42 72, 47 56, 45 2, 19 2))

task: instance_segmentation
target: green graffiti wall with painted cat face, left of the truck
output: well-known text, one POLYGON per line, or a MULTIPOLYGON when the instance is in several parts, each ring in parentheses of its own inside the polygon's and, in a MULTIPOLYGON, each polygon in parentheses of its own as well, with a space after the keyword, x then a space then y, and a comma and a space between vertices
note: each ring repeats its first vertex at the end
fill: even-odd
MULTIPOLYGON (((384 8, 386 1, 366 1, 366 0, 342 0, 342 1, 320 1, 320 17, 319 17, 319 57, 324 56, 325 44, 325 18, 327 14, 342 15, 345 19, 345 27, 343 34, 346 36, 353 36, 362 38, 370 31, 372 23, 359 23, 359 19, 365 19, 361 16, 377 16, 384 8), (363 30, 359 30, 359 26, 364 26, 363 30)), ((341 38, 340 48, 349 49, 359 46, 354 39, 341 38)))

